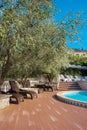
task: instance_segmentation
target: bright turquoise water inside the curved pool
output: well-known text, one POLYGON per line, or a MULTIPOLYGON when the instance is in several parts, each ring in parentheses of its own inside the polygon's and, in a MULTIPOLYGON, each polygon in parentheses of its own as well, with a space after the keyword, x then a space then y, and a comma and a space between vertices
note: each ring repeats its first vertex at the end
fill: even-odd
POLYGON ((78 100, 81 102, 87 102, 87 91, 64 92, 62 96, 65 96, 66 98, 70 98, 73 100, 78 100))

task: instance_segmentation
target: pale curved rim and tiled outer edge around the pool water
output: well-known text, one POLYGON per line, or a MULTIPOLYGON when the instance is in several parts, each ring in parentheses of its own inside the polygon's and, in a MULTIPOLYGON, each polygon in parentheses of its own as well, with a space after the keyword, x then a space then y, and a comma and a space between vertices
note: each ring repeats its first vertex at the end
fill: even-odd
POLYGON ((65 102, 65 103, 71 104, 71 105, 75 105, 75 106, 80 106, 80 107, 87 108, 87 103, 86 102, 82 102, 82 101, 79 101, 79 100, 73 100, 73 99, 67 98, 67 97, 62 95, 64 92, 87 92, 87 91, 84 91, 84 90, 80 90, 80 91, 79 90, 60 91, 60 92, 58 92, 56 94, 57 99, 62 101, 62 102, 65 102))

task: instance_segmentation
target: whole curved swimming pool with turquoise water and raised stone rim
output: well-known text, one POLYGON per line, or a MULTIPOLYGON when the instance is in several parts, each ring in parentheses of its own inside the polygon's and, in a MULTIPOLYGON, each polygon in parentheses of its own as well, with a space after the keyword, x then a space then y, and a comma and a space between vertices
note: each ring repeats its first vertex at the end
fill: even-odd
POLYGON ((67 104, 87 108, 87 91, 61 91, 57 93, 57 97, 67 104))

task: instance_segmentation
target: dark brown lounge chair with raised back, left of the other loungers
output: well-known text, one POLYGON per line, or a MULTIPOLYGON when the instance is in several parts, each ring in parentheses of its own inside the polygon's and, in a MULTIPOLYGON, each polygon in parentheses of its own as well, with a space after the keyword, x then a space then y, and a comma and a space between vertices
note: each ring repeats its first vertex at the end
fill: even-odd
POLYGON ((19 93, 21 95, 23 95, 23 97, 27 98, 27 95, 30 95, 31 99, 33 99, 34 97, 37 98, 37 93, 33 92, 33 91, 27 91, 27 90, 21 90, 18 88, 17 83, 15 81, 9 81, 10 85, 11 85, 11 93, 19 93))

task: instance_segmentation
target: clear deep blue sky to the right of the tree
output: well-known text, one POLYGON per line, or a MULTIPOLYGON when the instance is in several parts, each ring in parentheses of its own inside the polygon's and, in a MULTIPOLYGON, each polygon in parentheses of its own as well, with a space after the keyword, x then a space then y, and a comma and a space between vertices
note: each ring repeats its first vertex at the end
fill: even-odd
MULTIPOLYGON (((56 15, 56 19, 59 17, 61 19, 69 11, 73 10, 74 12, 84 11, 83 18, 87 20, 87 0, 55 0, 55 4, 58 10, 62 10, 60 15, 56 15)), ((82 34, 80 34, 81 42, 68 43, 69 47, 87 50, 87 25, 83 25, 83 27, 82 34)))

